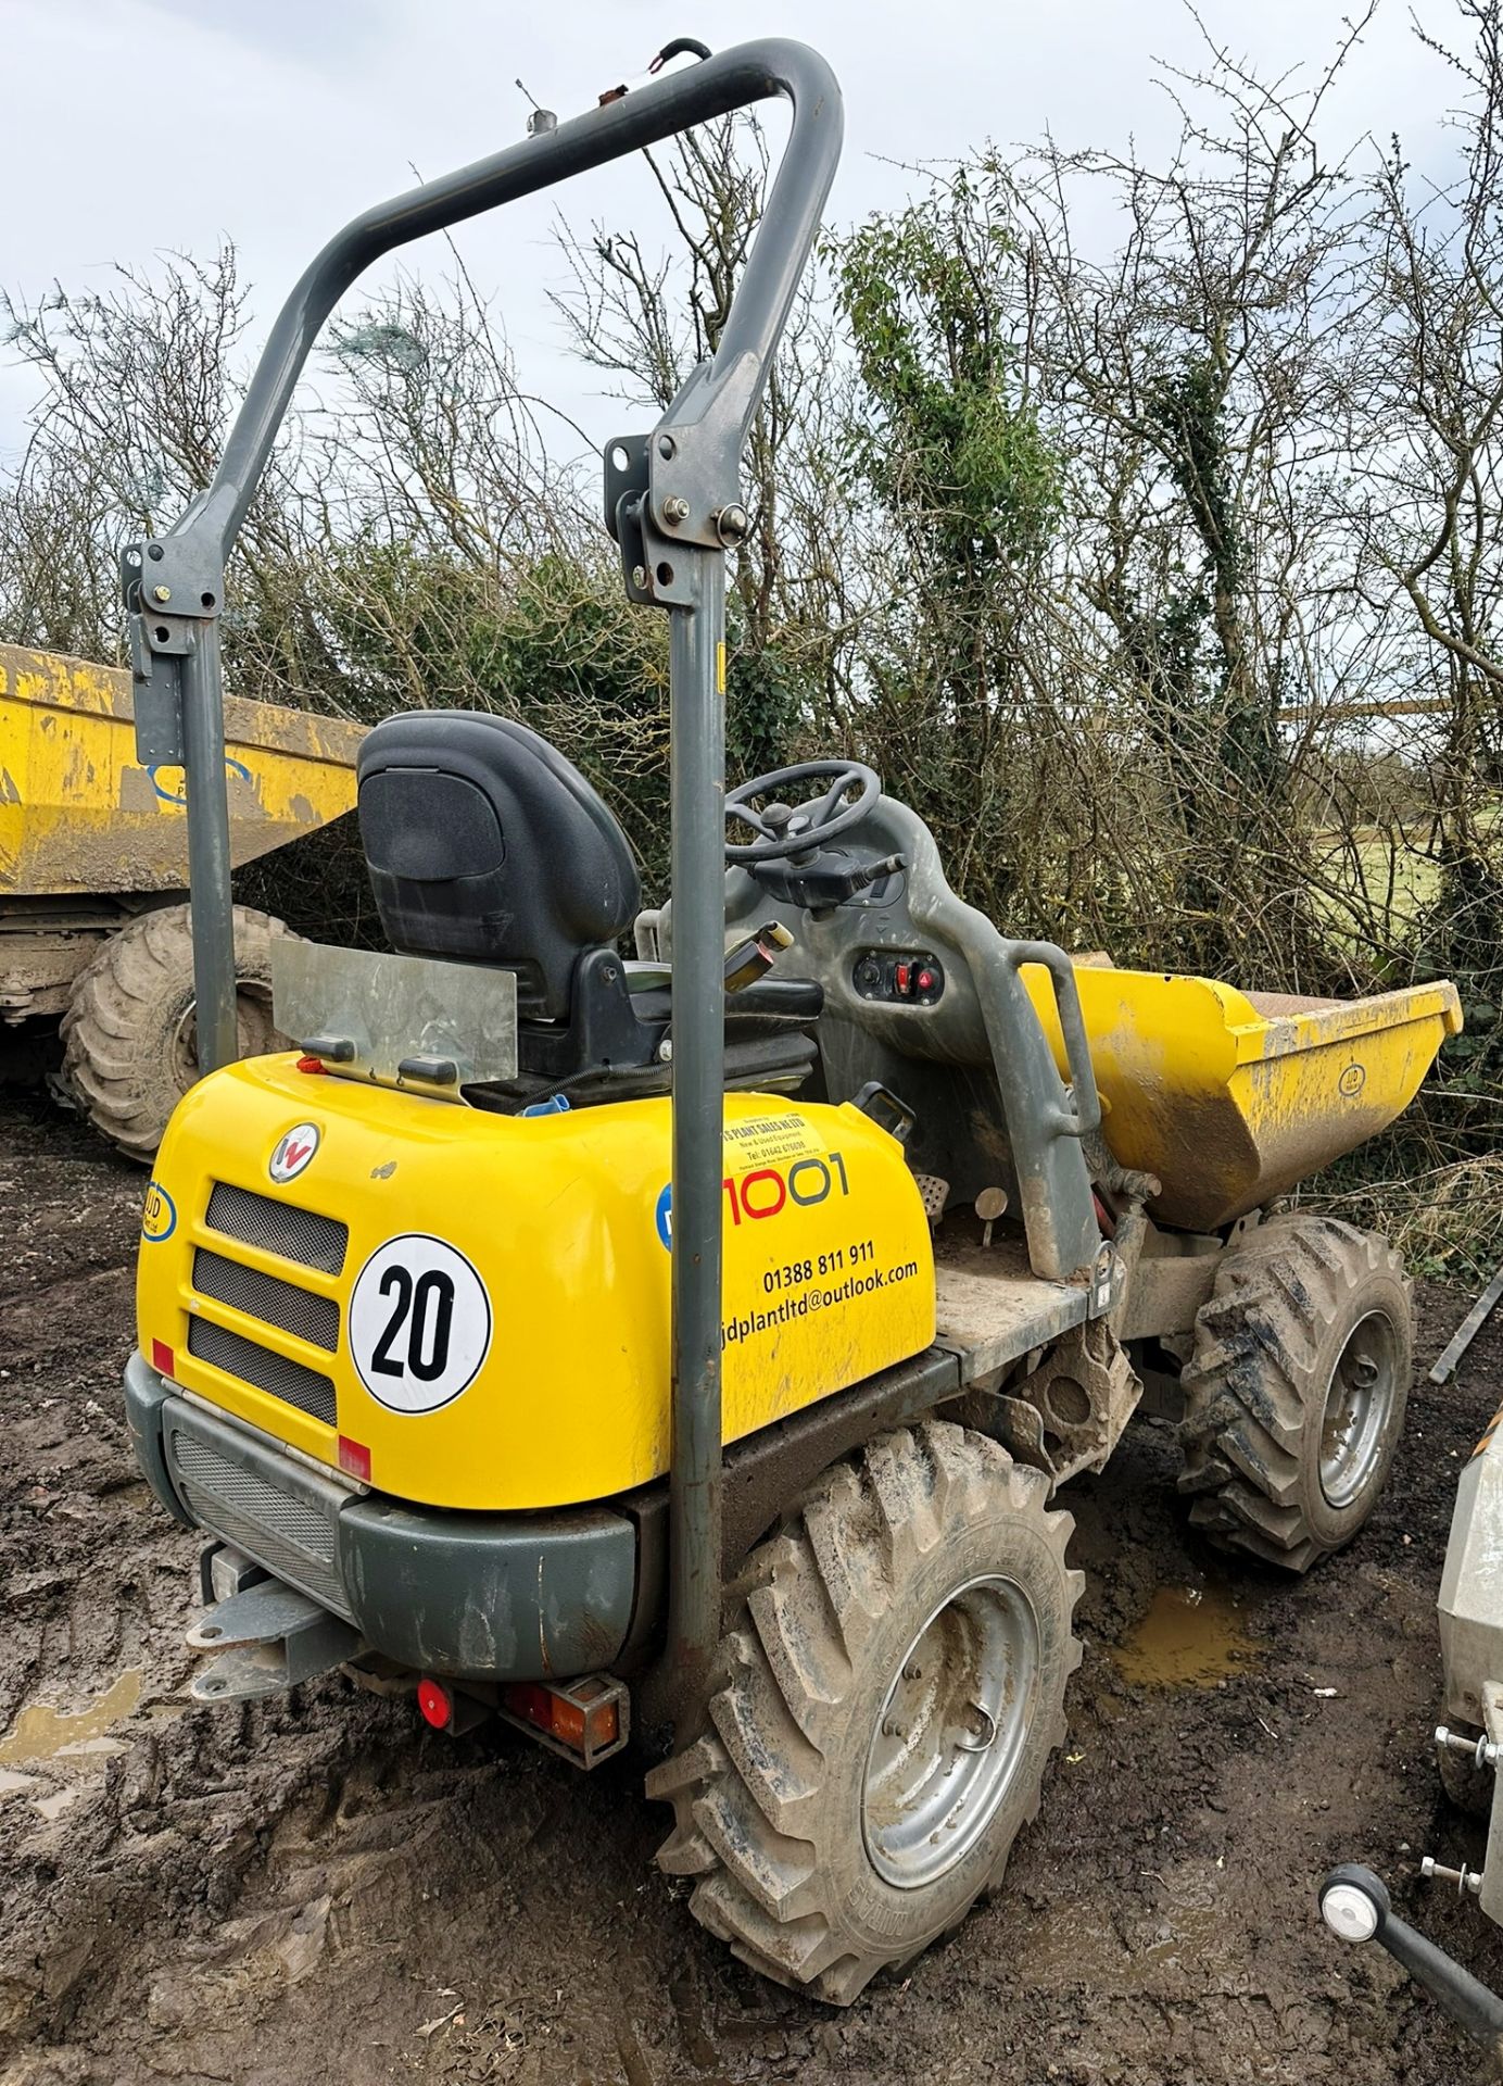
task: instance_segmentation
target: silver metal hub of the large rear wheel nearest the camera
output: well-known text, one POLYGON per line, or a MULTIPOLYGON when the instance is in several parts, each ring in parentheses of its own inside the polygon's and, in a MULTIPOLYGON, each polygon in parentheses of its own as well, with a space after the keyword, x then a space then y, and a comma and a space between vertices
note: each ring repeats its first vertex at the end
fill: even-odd
POLYGON ((971 1579, 917 1633, 861 1788, 867 1859, 888 1884, 919 1890, 982 1838, 1034 1721, 1038 1663, 1038 1617, 1011 1579, 971 1579))

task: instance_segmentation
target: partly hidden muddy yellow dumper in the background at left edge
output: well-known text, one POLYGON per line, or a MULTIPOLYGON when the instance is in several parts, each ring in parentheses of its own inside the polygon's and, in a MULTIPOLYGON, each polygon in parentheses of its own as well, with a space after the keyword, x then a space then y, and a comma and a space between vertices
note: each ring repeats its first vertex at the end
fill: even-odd
MULTIPOLYGON (((225 703, 236 866, 354 805, 361 726, 225 703)), ((0 645, 0 1022, 63 1018, 63 1091, 121 1151, 150 1160, 192 1085, 181 768, 135 759, 131 676, 0 645)), ((238 907, 240 1047, 275 1049, 271 943, 238 907)))

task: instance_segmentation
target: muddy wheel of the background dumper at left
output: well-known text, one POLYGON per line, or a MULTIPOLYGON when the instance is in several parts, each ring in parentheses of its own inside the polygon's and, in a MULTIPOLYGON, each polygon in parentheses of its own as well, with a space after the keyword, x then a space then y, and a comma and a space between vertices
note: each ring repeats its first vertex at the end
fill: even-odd
MULTIPOLYGON (((271 1020, 271 945, 288 932, 236 905, 242 1058, 288 1047, 271 1020)), ((196 1076, 192 928, 186 905, 163 905, 110 935, 75 978, 60 1083, 102 1137, 148 1166, 196 1076)))

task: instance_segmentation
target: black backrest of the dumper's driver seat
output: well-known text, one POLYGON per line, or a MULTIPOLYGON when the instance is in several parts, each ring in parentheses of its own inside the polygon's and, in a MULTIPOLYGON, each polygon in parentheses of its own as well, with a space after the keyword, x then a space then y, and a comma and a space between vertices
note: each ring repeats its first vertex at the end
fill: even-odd
POLYGON ((482 709, 388 718, 361 747, 361 841, 388 941, 517 972, 523 1018, 567 1020, 573 968, 615 943, 642 887, 573 761, 482 709))

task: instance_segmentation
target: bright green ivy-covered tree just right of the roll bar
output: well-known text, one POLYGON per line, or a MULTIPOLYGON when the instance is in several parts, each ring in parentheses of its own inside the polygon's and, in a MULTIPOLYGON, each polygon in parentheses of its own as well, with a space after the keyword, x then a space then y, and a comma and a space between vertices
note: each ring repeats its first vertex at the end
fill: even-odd
POLYGON ((1065 511, 1063 459, 1024 382, 1005 184, 955 169, 830 244, 859 388, 844 455, 869 486, 890 599, 861 632, 851 724, 934 826, 951 874, 999 912, 1028 778, 1024 626, 1065 511), (984 866, 984 868, 982 868, 984 866))

